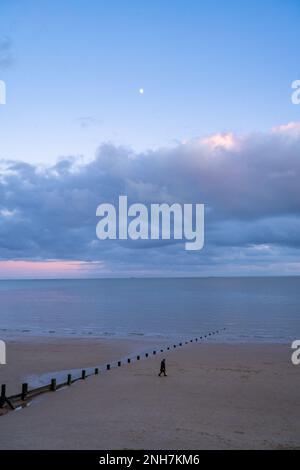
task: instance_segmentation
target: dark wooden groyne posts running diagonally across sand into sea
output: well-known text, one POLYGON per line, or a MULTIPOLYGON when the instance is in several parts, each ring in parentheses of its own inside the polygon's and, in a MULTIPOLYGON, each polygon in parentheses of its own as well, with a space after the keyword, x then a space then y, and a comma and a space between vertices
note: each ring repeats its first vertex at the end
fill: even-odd
MULTIPOLYGON (((184 344, 189 344, 189 343, 193 343, 194 341, 197 342, 199 340, 206 339, 210 336, 213 336, 213 335, 216 335, 216 334, 220 333, 221 331, 224 331, 225 329, 226 328, 222 328, 221 330, 212 331, 210 333, 207 333, 206 335, 200 336, 199 338, 194 338, 194 339, 190 339, 189 341, 184 341, 184 342, 180 342, 178 344, 173 344, 173 347, 167 346, 165 349, 160 349, 160 351, 153 350, 152 354, 156 355, 157 352, 163 353, 165 351, 170 351, 171 349, 175 349, 178 346, 181 347, 184 344)), ((144 353, 145 358, 149 357, 149 354, 150 353, 148 353, 148 352, 144 353)), ((134 360, 134 359, 139 361, 141 359, 141 357, 142 357, 141 355, 137 355, 135 358, 128 357, 127 364, 130 364, 131 361, 134 360)), ((117 367, 121 367, 121 365, 122 365, 122 361, 118 361, 117 362, 117 367)), ((111 366, 112 366, 112 364, 107 364, 106 365, 106 370, 109 371, 111 369, 111 366)), ((72 378, 72 374, 68 374, 67 375, 67 381, 63 382, 63 383, 60 383, 60 384, 57 384, 56 378, 52 378, 49 385, 44 385, 44 386, 41 386, 41 387, 38 387, 38 388, 35 388, 35 389, 31 389, 31 390, 28 389, 28 383, 23 383, 21 393, 17 394, 17 395, 10 396, 10 397, 6 396, 6 385, 3 384, 3 385, 1 385, 0 408, 4 408, 6 405, 8 405, 9 408, 15 409, 16 406, 18 407, 18 406, 24 405, 28 399, 33 398, 37 395, 40 395, 41 393, 45 393, 45 392, 49 392, 49 391, 55 392, 59 388, 70 386, 70 385, 72 385, 72 383, 77 382, 78 380, 85 380, 87 377, 90 377, 91 375, 98 375, 99 373, 100 373, 99 367, 95 367, 93 372, 90 373, 90 374, 87 374, 86 370, 83 369, 81 371, 81 376, 79 376, 77 378, 72 378)))

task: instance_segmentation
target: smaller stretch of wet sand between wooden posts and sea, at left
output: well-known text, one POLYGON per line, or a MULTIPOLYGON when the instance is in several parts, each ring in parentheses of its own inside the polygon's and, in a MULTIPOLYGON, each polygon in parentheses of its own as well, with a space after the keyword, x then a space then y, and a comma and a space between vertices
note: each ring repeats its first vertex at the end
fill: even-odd
MULTIPOLYGON (((105 365, 120 358, 137 354, 149 347, 158 347, 153 339, 85 339, 25 337, 22 341, 8 340, 7 364, 0 367, 0 384, 5 383, 7 395, 20 393, 23 382, 39 386, 45 373, 83 369, 105 365)), ((66 372, 67 373, 67 372, 66 372)))

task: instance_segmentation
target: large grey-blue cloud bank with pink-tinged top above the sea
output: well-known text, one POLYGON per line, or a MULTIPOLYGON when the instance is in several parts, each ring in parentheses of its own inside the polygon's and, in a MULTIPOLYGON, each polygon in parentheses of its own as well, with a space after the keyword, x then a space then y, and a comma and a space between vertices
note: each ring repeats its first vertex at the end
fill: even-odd
POLYGON ((290 135, 290 128, 297 123, 141 154, 105 144, 88 163, 75 157, 50 167, 2 161, 0 258, 75 260, 77 267, 85 263, 85 274, 90 263, 92 275, 295 274, 300 134, 290 135), (205 203, 203 251, 187 253, 180 243, 97 240, 97 206, 117 204, 121 194, 130 203, 205 203))

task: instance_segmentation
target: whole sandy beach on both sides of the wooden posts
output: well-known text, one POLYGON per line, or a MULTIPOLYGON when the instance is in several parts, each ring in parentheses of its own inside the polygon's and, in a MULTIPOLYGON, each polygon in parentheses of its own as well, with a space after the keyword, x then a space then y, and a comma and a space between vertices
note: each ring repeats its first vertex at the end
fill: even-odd
MULTIPOLYGON (((10 366, 1 368, 1 379, 7 374, 13 385, 22 370, 45 372, 51 361, 55 370, 93 365, 100 353, 103 362, 143 346, 107 340, 97 349, 85 340, 57 340, 43 341, 40 353, 36 345, 12 343, 19 371, 11 378, 10 366)), ((2 416, 0 448, 300 448, 300 368, 290 356, 290 345, 188 344, 164 354, 167 377, 157 375, 162 356, 152 356, 2 416)))

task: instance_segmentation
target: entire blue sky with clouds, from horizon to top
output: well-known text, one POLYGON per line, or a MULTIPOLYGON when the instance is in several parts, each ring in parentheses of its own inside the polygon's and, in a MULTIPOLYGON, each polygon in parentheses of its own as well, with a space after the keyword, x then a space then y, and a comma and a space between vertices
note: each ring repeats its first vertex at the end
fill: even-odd
POLYGON ((294 0, 1 0, 0 277, 299 274, 299 19, 294 0), (204 249, 97 240, 124 192, 205 203, 204 249))

